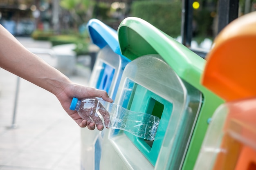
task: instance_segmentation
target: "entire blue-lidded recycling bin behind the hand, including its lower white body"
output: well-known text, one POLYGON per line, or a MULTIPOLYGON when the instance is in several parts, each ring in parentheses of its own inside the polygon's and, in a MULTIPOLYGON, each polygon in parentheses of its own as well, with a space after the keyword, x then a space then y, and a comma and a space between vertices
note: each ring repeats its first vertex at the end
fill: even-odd
MULTIPOLYGON (((115 99, 121 75, 130 60, 119 48, 117 31, 97 19, 87 24, 92 42, 99 46, 89 86, 104 90, 115 99)), ((99 170, 103 131, 81 129, 81 170, 99 170)))

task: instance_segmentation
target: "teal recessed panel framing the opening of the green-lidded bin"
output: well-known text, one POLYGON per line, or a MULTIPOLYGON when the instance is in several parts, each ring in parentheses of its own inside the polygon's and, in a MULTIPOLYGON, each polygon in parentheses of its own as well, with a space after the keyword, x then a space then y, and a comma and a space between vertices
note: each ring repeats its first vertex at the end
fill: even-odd
MULTIPOLYGON (((160 117, 161 119, 157 130, 157 136, 164 137, 165 129, 168 125, 166 122, 168 122, 170 119, 173 110, 172 103, 168 102, 162 97, 159 97, 155 93, 148 91, 148 89, 138 84, 133 96, 130 110, 136 110, 138 112, 148 113, 160 117), (156 102, 158 103, 158 106, 155 106, 156 102), (163 108, 161 106, 163 106, 163 108), (153 112, 154 109, 156 110, 155 112, 153 112)), ((147 141, 135 137, 128 132, 125 133, 130 138, 130 140, 132 140, 135 146, 137 146, 140 152, 142 152, 143 155, 150 161, 150 163, 155 166, 159 150, 161 149, 162 140, 157 138, 155 141, 147 141)))

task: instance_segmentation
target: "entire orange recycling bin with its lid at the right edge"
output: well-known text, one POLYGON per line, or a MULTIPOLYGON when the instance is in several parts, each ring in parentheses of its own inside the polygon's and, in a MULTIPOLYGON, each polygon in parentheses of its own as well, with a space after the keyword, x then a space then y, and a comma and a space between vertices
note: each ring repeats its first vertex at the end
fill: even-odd
POLYGON ((213 115, 194 170, 256 168, 255 18, 227 25, 206 57, 202 84, 227 103, 213 115))

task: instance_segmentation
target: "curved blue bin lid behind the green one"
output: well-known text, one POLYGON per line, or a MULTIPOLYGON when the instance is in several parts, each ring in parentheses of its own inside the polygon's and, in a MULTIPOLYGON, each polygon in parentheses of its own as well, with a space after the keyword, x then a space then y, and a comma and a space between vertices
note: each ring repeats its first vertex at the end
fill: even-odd
POLYGON ((91 19, 87 24, 87 30, 92 42, 99 46, 99 48, 102 49, 108 44, 115 53, 121 55, 115 29, 112 29, 98 19, 91 19))

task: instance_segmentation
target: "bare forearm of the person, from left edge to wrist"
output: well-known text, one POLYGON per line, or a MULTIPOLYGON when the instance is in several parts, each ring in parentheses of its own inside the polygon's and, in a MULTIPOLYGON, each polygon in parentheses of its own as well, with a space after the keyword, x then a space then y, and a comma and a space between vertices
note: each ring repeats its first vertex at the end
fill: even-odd
POLYGON ((29 52, 0 25, 0 67, 56 95, 70 80, 29 52))

